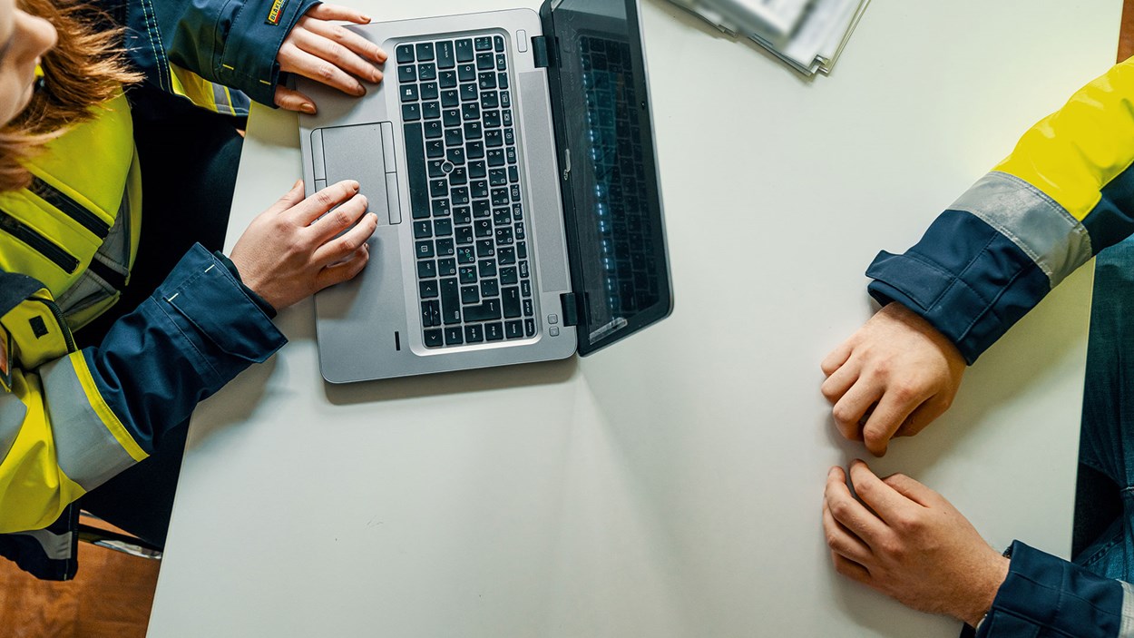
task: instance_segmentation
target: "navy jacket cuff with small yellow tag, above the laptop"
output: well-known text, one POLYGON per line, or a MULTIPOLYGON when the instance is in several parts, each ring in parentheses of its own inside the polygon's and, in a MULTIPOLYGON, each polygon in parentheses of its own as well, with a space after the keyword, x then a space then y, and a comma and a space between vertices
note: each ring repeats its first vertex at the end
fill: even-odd
POLYGON ((284 39, 320 0, 248 0, 232 18, 215 70, 220 83, 244 91, 270 107, 280 82, 284 39))

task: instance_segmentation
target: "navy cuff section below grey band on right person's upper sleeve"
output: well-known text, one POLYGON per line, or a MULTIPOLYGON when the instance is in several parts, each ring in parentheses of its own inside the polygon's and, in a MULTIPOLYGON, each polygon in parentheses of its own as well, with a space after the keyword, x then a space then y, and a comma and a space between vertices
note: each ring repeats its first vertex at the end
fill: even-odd
POLYGON ((976 216, 947 210, 905 254, 880 252, 868 291, 897 301, 949 338, 968 363, 1039 303, 1051 282, 1019 246, 976 216))

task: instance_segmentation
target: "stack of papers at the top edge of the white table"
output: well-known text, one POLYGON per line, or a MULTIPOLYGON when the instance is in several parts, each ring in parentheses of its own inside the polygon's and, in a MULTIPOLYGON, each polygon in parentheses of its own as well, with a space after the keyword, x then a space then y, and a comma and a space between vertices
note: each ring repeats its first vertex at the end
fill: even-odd
POLYGON ((870 0, 672 0, 799 73, 831 72, 870 0))

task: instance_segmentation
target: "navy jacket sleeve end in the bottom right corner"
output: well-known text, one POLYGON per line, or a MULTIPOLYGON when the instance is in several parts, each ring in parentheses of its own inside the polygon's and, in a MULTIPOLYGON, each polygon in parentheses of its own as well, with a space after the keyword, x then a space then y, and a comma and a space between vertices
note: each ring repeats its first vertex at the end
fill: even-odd
POLYGON ((1132 638, 1134 588, 1013 543, 1008 578, 976 638, 1132 638))

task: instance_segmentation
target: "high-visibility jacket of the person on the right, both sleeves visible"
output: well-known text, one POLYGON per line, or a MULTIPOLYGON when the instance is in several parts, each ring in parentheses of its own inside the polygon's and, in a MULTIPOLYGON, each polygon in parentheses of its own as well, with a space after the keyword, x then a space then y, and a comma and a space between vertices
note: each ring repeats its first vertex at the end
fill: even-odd
MULTIPOLYGON (((929 320, 972 363, 1067 275, 1134 233, 1134 60, 1019 140, 904 254, 881 252, 870 293, 929 320)), ((1134 637, 1134 586, 1016 542, 981 638, 1134 637)))

